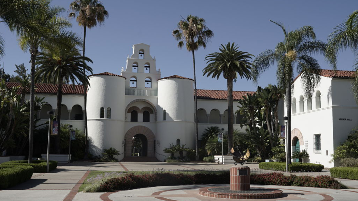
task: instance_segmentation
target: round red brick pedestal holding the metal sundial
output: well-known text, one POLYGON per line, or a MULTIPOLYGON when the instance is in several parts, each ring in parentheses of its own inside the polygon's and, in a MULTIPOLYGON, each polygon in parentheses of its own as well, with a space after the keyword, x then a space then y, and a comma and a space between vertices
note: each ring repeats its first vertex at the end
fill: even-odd
POLYGON ((250 190, 250 168, 246 166, 233 166, 230 168, 230 190, 250 190))

